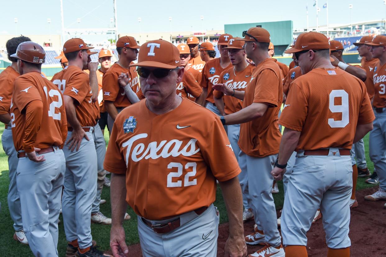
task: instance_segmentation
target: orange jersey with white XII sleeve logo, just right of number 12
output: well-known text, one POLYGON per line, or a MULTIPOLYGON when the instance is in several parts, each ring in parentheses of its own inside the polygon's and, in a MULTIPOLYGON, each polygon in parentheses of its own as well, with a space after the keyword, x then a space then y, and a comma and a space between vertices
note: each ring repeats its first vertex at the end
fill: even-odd
POLYGON ((63 95, 71 96, 74 99, 76 118, 80 125, 82 127, 94 126, 96 123, 95 110, 91 100, 93 94, 89 75, 79 67, 70 65, 56 73, 51 81, 58 86, 63 95))

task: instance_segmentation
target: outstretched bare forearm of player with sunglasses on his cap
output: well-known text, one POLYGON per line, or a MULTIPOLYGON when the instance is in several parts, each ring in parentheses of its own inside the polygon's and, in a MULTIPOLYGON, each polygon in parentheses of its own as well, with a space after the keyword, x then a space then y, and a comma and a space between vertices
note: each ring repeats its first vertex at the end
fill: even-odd
POLYGON ((249 122, 256 118, 260 118, 266 112, 268 106, 263 103, 252 103, 246 108, 242 108, 239 112, 235 112, 225 116, 226 125, 234 125, 249 122))

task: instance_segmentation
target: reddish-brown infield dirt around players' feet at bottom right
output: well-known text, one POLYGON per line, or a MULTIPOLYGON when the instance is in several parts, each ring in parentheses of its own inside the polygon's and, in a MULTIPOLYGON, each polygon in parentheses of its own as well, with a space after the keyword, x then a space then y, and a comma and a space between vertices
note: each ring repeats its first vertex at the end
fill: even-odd
MULTIPOLYGON (((364 196, 372 194, 376 188, 357 191, 359 206, 351 210, 350 238, 352 257, 385 257, 386 256, 386 210, 384 201, 369 202, 364 196)), ((244 234, 253 231, 253 222, 244 223, 244 234)), ((223 223, 219 228, 217 256, 224 256, 224 245, 228 237, 228 223, 223 223)), ((312 225, 308 235, 308 256, 327 256, 325 233, 322 221, 318 220, 312 225)), ((252 254, 262 246, 248 245, 248 254, 252 254)), ((139 244, 129 246, 129 256, 142 256, 139 244)))

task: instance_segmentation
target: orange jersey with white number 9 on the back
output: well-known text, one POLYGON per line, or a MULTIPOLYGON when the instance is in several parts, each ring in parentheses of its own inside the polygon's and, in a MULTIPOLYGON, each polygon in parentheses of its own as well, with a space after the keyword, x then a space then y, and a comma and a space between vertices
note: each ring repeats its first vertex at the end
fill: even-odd
POLYGON ((317 68, 292 82, 279 123, 301 132, 296 150, 351 149, 357 124, 374 118, 360 79, 339 68, 317 68))

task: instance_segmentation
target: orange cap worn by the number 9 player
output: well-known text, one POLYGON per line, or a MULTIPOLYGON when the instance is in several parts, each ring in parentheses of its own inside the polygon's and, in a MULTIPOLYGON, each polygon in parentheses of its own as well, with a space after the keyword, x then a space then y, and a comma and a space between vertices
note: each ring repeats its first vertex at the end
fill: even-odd
POLYGON ((304 50, 330 49, 328 38, 319 32, 304 32, 298 36, 295 46, 284 51, 286 54, 304 50))

